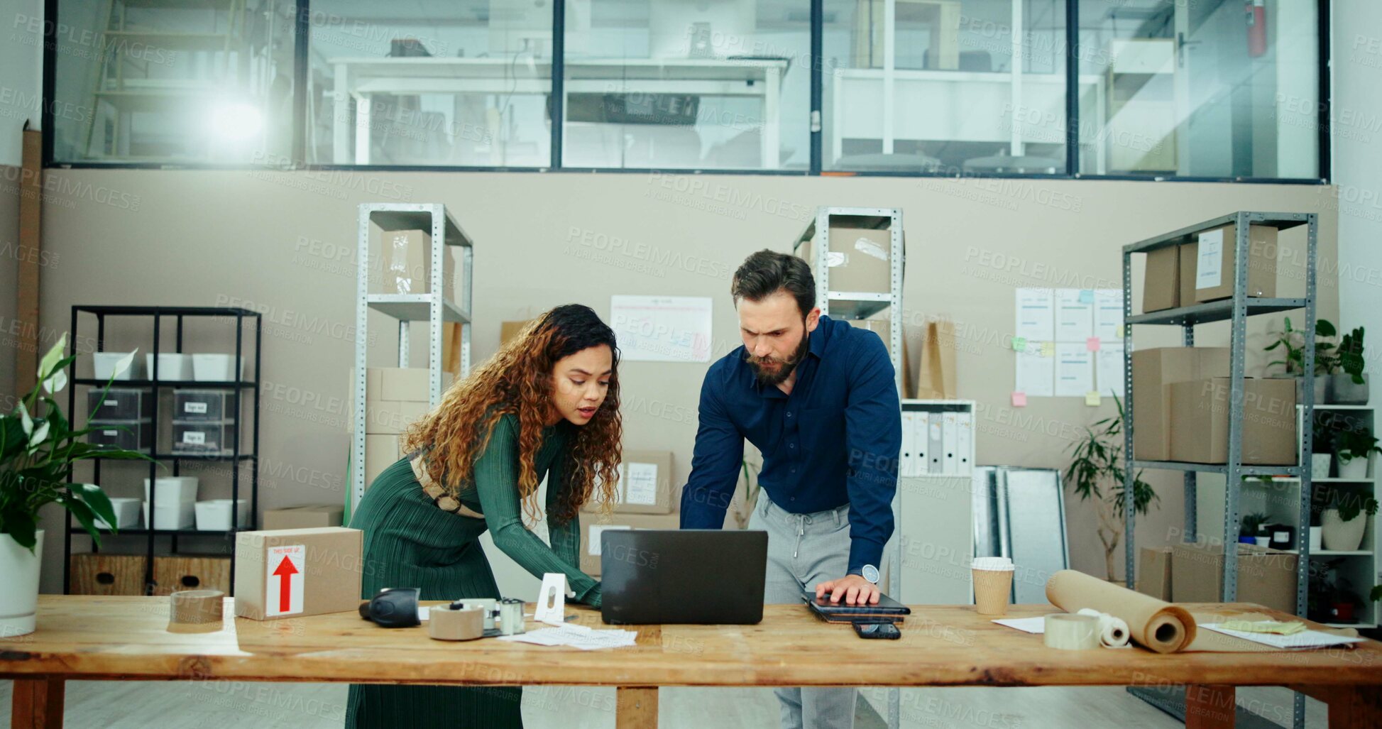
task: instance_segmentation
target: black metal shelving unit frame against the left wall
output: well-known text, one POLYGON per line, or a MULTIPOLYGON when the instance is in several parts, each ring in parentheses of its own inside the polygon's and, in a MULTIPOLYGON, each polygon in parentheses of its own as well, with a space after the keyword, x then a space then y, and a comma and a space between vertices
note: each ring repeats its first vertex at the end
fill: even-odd
MULTIPOLYGON (((169 537, 169 553, 177 552, 177 541, 180 535, 193 535, 193 537, 220 537, 223 539, 234 539, 235 534, 239 531, 252 531, 257 528, 258 522, 258 433, 260 433, 260 373, 263 364, 263 317, 257 311, 249 308, 236 307, 198 307, 198 306, 73 306, 72 307, 72 326, 70 326, 70 340, 68 343, 68 356, 77 357, 76 343, 82 340, 79 336, 77 326, 82 324, 82 314, 88 314, 95 317, 95 351, 105 351, 105 326, 106 318, 109 317, 131 317, 131 318, 149 318, 153 336, 152 349, 146 350, 148 354, 153 354, 153 369, 149 372, 146 379, 126 379, 115 380, 113 387, 123 389, 142 389, 148 391, 148 396, 153 400, 153 414, 152 414, 152 433, 153 439, 149 444, 149 456, 153 462, 149 463, 149 492, 148 492, 148 517, 144 528, 123 528, 119 530, 120 537, 142 535, 146 537, 146 559, 144 564, 144 592, 145 595, 152 595, 155 589, 153 582, 153 556, 156 552, 158 537, 169 537), (240 357, 245 357, 246 342, 245 342, 245 325, 246 320, 253 324, 254 336, 254 354, 253 354, 253 369, 252 378, 239 380, 164 380, 159 378, 159 354, 182 353, 182 331, 185 320, 188 318, 224 318, 235 321, 235 360, 232 360, 234 367, 239 367, 240 357), (162 329, 163 324, 169 320, 174 320, 177 325, 177 333, 174 336, 173 349, 163 349, 162 329), (159 393, 162 390, 180 390, 180 389, 196 389, 196 390, 229 390, 231 391, 231 412, 234 421, 234 436, 231 437, 231 452, 229 454, 173 454, 173 452, 159 452, 160 443, 160 429, 159 425, 163 421, 163 415, 159 408, 159 393), (249 390, 249 394, 246 394, 249 390), (243 398, 250 397, 253 403, 250 414, 250 437, 247 444, 240 443, 240 434, 243 432, 243 414, 242 405, 243 398), (243 448, 242 448, 243 447, 243 448), (180 530, 162 530, 149 528, 153 526, 156 519, 156 499, 158 488, 156 479, 159 476, 159 465, 169 462, 173 465, 173 474, 178 476, 184 462, 225 462, 229 465, 231 472, 231 528, 229 530, 196 530, 196 528, 180 528, 180 530), (236 502, 240 498, 240 468, 242 465, 249 469, 249 488, 250 488, 250 519, 247 524, 239 523, 239 509, 236 502)), ((86 317, 90 318, 90 317, 86 317)), ((87 354, 87 353, 80 353, 87 354)), ((76 414, 76 390, 79 386, 88 387, 104 387, 106 380, 95 378, 77 378, 77 361, 73 360, 69 365, 69 380, 72 383, 68 387, 68 419, 75 422, 76 414)), ((171 419, 171 415, 170 415, 171 419)), ((84 421, 83 421, 84 422, 84 421)), ((101 481, 101 462, 104 459, 94 458, 94 477, 95 483, 101 481)), ((69 477, 70 480, 70 477, 69 477)), ((111 530, 100 530, 102 535, 112 534, 111 530)), ((73 527, 72 519, 68 517, 64 528, 64 556, 62 556, 62 592, 70 593, 72 591, 72 535, 86 534, 86 530, 80 526, 73 527)), ((93 544, 93 551, 97 546, 93 544)), ((234 544, 229 549, 231 557, 231 573, 235 571, 235 549, 234 544)))

